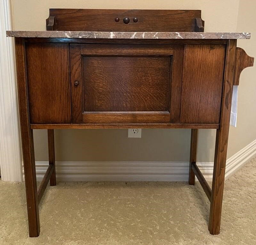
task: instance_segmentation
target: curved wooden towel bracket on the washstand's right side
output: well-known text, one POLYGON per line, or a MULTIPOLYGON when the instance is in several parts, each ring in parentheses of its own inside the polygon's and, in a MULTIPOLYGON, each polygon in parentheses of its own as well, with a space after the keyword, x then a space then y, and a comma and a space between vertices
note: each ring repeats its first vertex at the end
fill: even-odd
POLYGON ((239 77, 244 68, 253 66, 254 57, 250 57, 242 48, 236 48, 236 71, 234 85, 239 85, 239 77))

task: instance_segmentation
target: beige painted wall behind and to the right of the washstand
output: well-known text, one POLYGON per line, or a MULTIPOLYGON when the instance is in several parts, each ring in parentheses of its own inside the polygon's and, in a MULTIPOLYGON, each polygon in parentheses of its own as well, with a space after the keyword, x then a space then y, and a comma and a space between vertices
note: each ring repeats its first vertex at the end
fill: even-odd
MULTIPOLYGON (((205 31, 255 31, 253 0, 12 0, 15 30, 45 30, 49 8, 94 9, 201 9, 205 31), (246 3, 245 3, 246 2, 246 3), (247 14, 248 13, 248 14, 247 14), (254 22, 252 20, 254 18, 254 22), (239 20, 239 23, 237 21, 239 20)), ((256 35, 256 32, 255 32, 256 35)), ((241 41, 256 56, 255 38, 241 41), (253 47, 254 43, 254 47, 253 47)), ((238 128, 231 128, 228 155, 256 139, 255 68, 244 71, 239 90, 238 128), (254 72, 254 73, 253 73, 254 72), (254 83, 253 83, 254 82, 254 83), (254 114, 253 114, 254 111, 254 114), (250 120, 250 121, 249 121, 250 120)), ((190 130, 143 129, 142 139, 127 138, 125 129, 56 130, 56 159, 59 161, 188 161, 190 130)), ((198 161, 213 161, 214 130, 199 131, 198 161)), ((37 161, 47 160, 47 134, 35 131, 37 161)))

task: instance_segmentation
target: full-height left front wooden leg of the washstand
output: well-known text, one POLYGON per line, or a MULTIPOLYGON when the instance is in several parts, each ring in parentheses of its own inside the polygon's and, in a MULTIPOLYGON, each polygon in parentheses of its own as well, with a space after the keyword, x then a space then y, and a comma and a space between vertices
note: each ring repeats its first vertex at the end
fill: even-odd
POLYGON ((29 221, 29 236, 40 234, 38 194, 35 174, 35 153, 33 131, 29 120, 29 102, 27 98, 25 40, 15 37, 16 71, 20 109, 20 132, 23 152, 23 165, 26 185, 26 200, 29 221))

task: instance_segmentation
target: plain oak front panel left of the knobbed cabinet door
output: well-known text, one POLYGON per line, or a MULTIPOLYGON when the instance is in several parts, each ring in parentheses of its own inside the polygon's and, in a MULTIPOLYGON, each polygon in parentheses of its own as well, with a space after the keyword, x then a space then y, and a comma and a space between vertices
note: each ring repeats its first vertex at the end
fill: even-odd
POLYGON ((26 43, 31 123, 71 123, 69 45, 26 43))

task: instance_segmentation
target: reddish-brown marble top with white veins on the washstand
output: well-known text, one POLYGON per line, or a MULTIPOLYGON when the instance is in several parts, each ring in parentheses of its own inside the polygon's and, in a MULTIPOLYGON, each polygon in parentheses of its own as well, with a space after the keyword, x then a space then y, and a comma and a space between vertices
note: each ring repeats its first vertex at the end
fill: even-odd
POLYGON ((105 39, 250 39, 248 32, 6 31, 7 37, 105 39))

